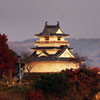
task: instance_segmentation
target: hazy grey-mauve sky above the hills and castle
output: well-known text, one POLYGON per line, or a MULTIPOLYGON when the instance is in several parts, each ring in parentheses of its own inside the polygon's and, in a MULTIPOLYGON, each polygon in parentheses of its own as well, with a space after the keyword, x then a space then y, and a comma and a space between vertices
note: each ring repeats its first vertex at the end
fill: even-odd
POLYGON ((33 38, 60 22, 71 38, 100 38, 100 0, 0 0, 0 33, 9 41, 33 38))

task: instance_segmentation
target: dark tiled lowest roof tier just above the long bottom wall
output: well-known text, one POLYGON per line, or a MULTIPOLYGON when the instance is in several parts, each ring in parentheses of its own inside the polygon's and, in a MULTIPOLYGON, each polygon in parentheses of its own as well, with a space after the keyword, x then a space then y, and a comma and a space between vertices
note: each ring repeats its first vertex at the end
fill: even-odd
POLYGON ((31 55, 31 58, 33 61, 68 61, 68 62, 80 62, 80 61, 85 61, 84 59, 80 58, 59 58, 59 56, 66 50, 66 47, 63 47, 62 49, 58 50, 56 54, 48 54, 45 50, 42 52, 47 55, 47 56, 41 56, 38 57, 39 55, 36 55, 36 52, 34 52, 31 55))

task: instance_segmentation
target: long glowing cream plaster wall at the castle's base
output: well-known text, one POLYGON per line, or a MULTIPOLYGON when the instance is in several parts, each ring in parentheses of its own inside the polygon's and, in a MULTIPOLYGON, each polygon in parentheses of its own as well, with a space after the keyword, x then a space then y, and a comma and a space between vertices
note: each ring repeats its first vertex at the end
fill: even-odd
MULTIPOLYGON (((66 69, 78 69, 79 63, 68 61, 33 61, 31 73, 60 72, 66 69)), ((28 72, 25 67, 25 72, 28 72)))

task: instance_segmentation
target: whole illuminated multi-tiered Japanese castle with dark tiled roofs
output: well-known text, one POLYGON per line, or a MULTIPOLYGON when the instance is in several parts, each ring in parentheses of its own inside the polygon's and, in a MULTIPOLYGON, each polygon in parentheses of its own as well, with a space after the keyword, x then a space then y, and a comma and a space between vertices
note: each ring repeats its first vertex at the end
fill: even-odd
MULTIPOLYGON (((32 62, 30 72, 48 73, 60 72, 66 69, 78 69, 81 61, 78 60, 69 48, 69 34, 65 34, 57 22, 57 25, 48 25, 45 23, 43 31, 35 35, 36 47, 32 48, 32 62)), ((28 72, 27 68, 25 72, 28 72)))

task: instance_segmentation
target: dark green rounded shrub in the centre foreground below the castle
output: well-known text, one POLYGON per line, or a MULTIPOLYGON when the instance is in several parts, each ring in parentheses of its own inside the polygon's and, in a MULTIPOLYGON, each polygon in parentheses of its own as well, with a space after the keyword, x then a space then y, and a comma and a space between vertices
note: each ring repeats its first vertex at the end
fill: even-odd
POLYGON ((52 93, 57 96, 64 95, 68 88, 66 79, 61 74, 48 74, 41 76, 40 80, 35 83, 35 89, 42 90, 43 93, 52 93))

